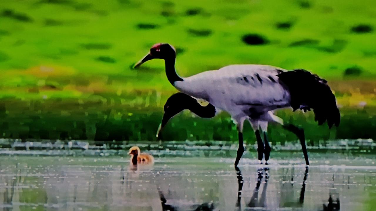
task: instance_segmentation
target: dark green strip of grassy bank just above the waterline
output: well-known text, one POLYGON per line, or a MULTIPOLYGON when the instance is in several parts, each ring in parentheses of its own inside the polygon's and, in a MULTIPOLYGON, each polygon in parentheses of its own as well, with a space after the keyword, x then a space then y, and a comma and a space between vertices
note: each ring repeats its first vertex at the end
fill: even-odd
MULTIPOLYGON (((153 94, 134 107, 122 105, 121 98, 98 98, 91 101, 46 99, 21 101, 2 99, 0 134, 13 139, 80 139, 80 140, 156 140, 155 133, 162 119, 162 105, 156 106, 153 94), (101 100, 102 99, 102 100, 101 100)), ((154 98, 155 99, 155 98, 154 98)), ((313 112, 280 110, 285 122, 305 128, 312 143, 328 139, 376 139, 374 107, 343 108, 340 127, 329 130, 318 126, 313 112)), ((296 140, 294 134, 279 125, 270 125, 271 142, 296 140)), ((255 140, 249 124, 244 127, 248 143, 255 140)), ((203 119, 186 111, 175 116, 165 127, 163 140, 237 140, 237 130, 227 113, 203 119)))

